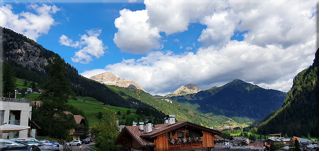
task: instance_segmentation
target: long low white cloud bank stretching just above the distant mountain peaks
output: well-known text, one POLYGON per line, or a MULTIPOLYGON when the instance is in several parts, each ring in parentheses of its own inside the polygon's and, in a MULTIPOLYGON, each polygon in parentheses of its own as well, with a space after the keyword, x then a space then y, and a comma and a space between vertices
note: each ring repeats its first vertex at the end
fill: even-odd
POLYGON ((309 53, 314 56, 314 42, 308 42, 301 48, 291 46, 284 49, 275 45, 263 48, 243 41, 231 41, 222 49, 199 48, 196 54, 153 51, 137 60, 123 59, 120 63, 109 64, 105 70, 134 80, 151 94, 172 93, 189 83, 208 89, 233 79, 288 91, 291 79, 298 73, 296 69, 304 69, 312 61, 313 58, 307 60, 309 64, 303 64, 309 53))

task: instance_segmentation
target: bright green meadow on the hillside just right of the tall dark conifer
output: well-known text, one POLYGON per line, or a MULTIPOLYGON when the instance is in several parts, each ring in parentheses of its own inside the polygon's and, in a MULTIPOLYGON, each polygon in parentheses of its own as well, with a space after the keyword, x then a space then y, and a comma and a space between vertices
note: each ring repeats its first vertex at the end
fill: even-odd
MULTIPOLYGON (((131 114, 135 115, 136 114, 136 109, 127 109, 127 108, 121 108, 121 107, 115 107, 115 106, 109 106, 109 105, 100 105, 100 103, 96 99, 92 97, 82 97, 82 96, 77 96, 78 100, 69 100, 68 104, 71 104, 75 106, 78 109, 82 109, 83 112, 85 113, 85 116, 89 119, 89 125, 92 126, 95 123, 99 122, 100 119, 98 119, 97 115, 99 112, 106 113, 106 112, 111 112, 110 110, 114 110, 115 112, 120 111, 121 115, 115 115, 115 118, 119 118, 119 122, 123 121, 122 119, 123 115, 127 115, 126 112, 127 110, 131 110, 131 114), (85 100, 85 102, 82 102, 80 100, 85 100), (104 109, 107 108, 107 109, 104 109)), ((112 112, 113 113, 113 112, 112 112)))

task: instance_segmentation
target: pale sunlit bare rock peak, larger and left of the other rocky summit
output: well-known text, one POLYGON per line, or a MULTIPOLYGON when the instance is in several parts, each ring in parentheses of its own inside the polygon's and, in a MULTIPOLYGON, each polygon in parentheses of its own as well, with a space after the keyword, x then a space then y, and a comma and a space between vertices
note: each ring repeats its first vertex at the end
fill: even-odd
MULTIPOLYGON (((122 78, 116 77, 112 72, 105 72, 95 76, 90 77, 89 79, 104 83, 106 85, 115 85, 119 87, 129 87, 136 88, 145 91, 139 84, 134 81, 125 80, 122 78)), ((145 91, 146 92, 146 91, 145 91)))

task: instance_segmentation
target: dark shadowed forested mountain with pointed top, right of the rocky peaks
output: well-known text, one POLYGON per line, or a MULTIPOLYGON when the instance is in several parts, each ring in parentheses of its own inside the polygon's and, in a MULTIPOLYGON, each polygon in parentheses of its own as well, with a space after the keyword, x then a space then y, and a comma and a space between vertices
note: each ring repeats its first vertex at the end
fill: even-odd
POLYGON ((285 92, 267 90, 235 79, 221 87, 169 98, 181 103, 198 104, 198 110, 204 113, 259 120, 271 111, 279 109, 285 96, 285 92))

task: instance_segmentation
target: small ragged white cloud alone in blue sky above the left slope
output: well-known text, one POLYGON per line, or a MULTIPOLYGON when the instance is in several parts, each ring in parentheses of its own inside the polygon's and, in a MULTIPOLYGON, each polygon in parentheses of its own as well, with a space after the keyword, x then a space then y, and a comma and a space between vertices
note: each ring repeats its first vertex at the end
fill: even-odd
POLYGON ((98 39, 98 36, 102 33, 102 29, 93 29, 86 30, 87 34, 79 35, 81 37, 80 41, 73 42, 69 37, 62 35, 59 38, 61 45, 82 48, 74 53, 72 57, 73 62, 79 62, 81 64, 89 64, 92 61, 92 56, 99 59, 104 56, 105 49, 108 49, 108 46, 104 46, 101 39, 98 39))

